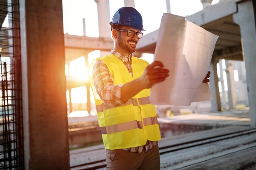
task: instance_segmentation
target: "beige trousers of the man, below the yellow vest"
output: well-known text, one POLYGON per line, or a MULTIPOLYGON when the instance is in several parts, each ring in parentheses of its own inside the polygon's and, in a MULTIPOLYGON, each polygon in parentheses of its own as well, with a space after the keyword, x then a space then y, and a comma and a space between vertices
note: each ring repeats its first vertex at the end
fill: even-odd
POLYGON ((160 170, 159 147, 142 153, 128 152, 123 149, 106 149, 107 170, 160 170))

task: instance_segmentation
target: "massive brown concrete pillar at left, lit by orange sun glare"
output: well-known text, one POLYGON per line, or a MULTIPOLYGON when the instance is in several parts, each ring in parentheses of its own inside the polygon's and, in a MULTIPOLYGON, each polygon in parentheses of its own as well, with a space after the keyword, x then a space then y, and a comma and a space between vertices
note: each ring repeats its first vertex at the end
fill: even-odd
POLYGON ((20 0, 26 170, 69 170, 62 0, 20 0))

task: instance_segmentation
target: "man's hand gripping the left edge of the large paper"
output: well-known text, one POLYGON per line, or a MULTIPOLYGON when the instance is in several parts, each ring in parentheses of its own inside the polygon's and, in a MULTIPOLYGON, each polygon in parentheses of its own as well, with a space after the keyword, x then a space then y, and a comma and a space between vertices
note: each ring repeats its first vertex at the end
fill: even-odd
POLYGON ((145 71, 143 75, 139 78, 142 85, 143 89, 145 88, 151 88, 152 85, 158 83, 158 82, 163 82, 166 77, 169 77, 169 70, 163 68, 163 63, 160 61, 154 61, 151 63, 151 65, 148 65, 145 68, 145 71), (156 66, 159 66, 155 68, 156 66))

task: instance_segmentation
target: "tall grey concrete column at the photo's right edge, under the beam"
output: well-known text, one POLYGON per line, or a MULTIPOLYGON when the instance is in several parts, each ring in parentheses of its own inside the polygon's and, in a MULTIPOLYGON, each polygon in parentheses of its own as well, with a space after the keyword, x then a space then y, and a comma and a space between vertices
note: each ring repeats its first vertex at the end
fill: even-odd
POLYGON ((252 127, 256 127, 256 4, 252 0, 238 3, 238 12, 233 20, 239 24, 241 31, 242 50, 244 55, 247 91, 252 127))

